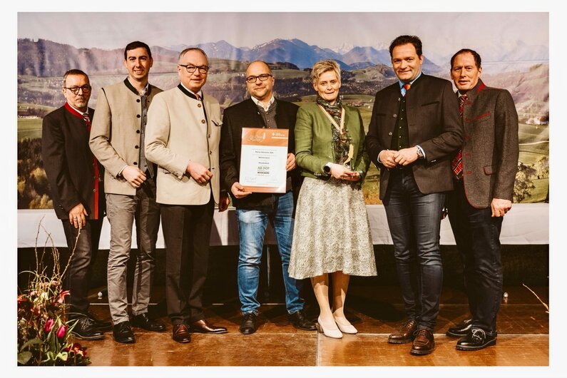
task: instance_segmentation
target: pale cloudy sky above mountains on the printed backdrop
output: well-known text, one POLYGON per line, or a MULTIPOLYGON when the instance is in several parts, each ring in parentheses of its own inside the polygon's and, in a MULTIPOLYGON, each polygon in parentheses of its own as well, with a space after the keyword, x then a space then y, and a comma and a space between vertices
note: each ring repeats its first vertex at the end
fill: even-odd
MULTIPOLYGON (((471 46, 480 51, 548 48, 548 13, 300 13, 300 12, 19 12, 18 37, 49 39, 83 48, 123 48, 143 38, 150 46, 174 47, 225 40, 253 47, 272 39, 301 39, 321 48, 387 48, 401 34, 415 34, 424 53, 447 55, 471 46), (83 27, 80 27, 80 26, 83 27), (459 25, 459 32, 455 32, 459 25), (479 46, 481 41, 484 46, 479 46), (344 46, 346 44, 346 46, 344 46)), ((346 51, 344 51, 346 52, 346 51)))

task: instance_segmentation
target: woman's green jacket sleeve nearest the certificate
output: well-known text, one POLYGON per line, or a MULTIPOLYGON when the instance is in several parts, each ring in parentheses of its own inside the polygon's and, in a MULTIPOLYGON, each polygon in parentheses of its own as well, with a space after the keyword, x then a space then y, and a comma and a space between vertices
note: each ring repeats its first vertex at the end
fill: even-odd
POLYGON ((313 155, 312 144, 314 138, 317 138, 314 129, 315 117, 305 108, 300 108, 295 121, 295 160, 302 169, 317 175, 327 175, 323 166, 329 159, 313 155))

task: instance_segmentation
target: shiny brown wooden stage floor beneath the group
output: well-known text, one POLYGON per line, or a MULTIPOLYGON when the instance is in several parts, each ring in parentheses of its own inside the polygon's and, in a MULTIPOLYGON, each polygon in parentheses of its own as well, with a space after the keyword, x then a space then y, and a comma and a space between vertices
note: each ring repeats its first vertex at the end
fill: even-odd
MULTIPOLYGON (((548 303, 548 287, 532 289, 548 303)), ((359 333, 344 335, 342 339, 296 330, 287 323, 282 304, 262 304, 257 332, 240 334, 240 303, 233 298, 205 309, 208 320, 227 327, 227 334, 193 334, 189 344, 178 344, 171 339, 172 327, 163 305, 155 305, 151 311, 160 314, 167 325, 166 332, 133 328, 136 344, 114 342, 111 332, 106 332, 103 340, 79 342, 88 347, 91 366, 548 366, 546 308, 526 287, 504 290, 509 293, 509 300, 501 306, 498 344, 477 352, 457 351, 456 339, 445 336, 447 328, 463 320, 468 312, 463 292, 451 287, 444 287, 441 297, 434 331, 436 350, 420 357, 409 354, 411 344, 387 343, 389 333, 404 321, 401 295, 395 286, 350 287, 347 317, 359 333)), ((153 301, 161 300, 163 287, 157 287, 153 301)), ((314 303, 310 302, 307 313, 315 319, 314 303)), ((98 300, 93 293, 91 310, 98 317, 110 319, 106 297, 98 300)))

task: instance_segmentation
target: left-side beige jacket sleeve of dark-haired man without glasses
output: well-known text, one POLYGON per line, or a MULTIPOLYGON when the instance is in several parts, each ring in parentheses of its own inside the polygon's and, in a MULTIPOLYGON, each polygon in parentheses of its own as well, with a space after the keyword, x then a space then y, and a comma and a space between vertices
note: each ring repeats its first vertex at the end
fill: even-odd
POLYGON ((108 170, 108 173, 113 177, 118 177, 128 163, 121 158, 120 155, 111 145, 112 127, 120 127, 120 125, 112 124, 111 107, 108 104, 108 98, 104 89, 98 92, 98 99, 96 101, 96 111, 91 126, 91 136, 88 145, 93 151, 99 162, 108 170))

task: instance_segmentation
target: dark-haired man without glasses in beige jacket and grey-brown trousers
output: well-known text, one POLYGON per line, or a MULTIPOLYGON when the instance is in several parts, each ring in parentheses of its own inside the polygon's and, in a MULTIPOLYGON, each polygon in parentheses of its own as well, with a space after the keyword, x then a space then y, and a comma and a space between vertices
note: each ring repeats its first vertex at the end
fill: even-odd
POLYGON ((161 89, 148 83, 153 65, 150 47, 133 41, 124 49, 128 77, 98 93, 89 145, 104 165, 106 215, 111 223, 108 252, 108 305, 116 342, 136 342, 131 325, 163 332, 165 325, 148 315, 155 242, 160 209, 155 202, 155 171, 144 154, 148 109, 161 89), (128 315, 126 269, 131 252, 132 225, 136 221, 138 249, 132 290, 132 317, 128 315))

